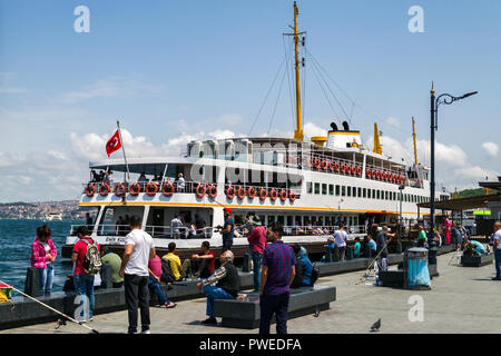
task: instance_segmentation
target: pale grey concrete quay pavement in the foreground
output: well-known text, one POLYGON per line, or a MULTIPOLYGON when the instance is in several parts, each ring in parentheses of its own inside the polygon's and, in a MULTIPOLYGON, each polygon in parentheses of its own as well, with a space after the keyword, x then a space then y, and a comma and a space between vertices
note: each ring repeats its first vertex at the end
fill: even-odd
MULTIPOLYGON (((366 334, 382 319, 379 334, 499 334, 501 333, 501 283, 491 280, 494 265, 464 268, 456 265, 454 254, 438 257, 440 277, 433 278, 432 290, 404 290, 375 287, 371 280, 360 283, 363 271, 321 277, 316 285, 335 286, 336 301, 318 317, 306 315, 288 322, 296 334, 366 334), (451 263, 451 265, 449 265, 451 263), (410 297, 423 300, 423 322, 411 322, 410 297), (418 297, 419 298, 419 297, 418 297)), ((395 269, 392 266, 391 269, 395 269)), ((257 329, 205 326, 206 298, 179 301, 174 309, 150 308, 153 334, 257 334, 257 329)), ((411 313, 412 314, 412 313, 411 313)), ((414 315, 414 314, 413 314, 414 315)), ((46 323, 1 330, 0 334, 87 334, 88 329, 68 323, 55 329, 46 323)), ((90 327, 100 333, 125 333, 127 312, 97 315, 90 327)), ((275 327, 272 326, 272 333, 275 327)))

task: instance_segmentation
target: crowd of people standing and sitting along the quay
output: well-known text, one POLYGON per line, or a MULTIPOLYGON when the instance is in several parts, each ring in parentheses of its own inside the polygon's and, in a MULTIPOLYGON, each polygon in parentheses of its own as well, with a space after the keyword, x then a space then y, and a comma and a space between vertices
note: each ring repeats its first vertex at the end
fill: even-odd
MULTIPOLYGON (((161 258, 157 255, 149 234, 141 229, 139 216, 128 217, 128 233, 125 239, 125 251, 120 258, 107 247, 100 247, 91 237, 87 226, 77 229, 79 240, 75 244, 71 260, 73 263, 72 283, 79 296, 85 296, 89 301, 87 315, 81 315, 81 322, 94 320, 96 278, 102 265, 107 265, 111 274, 112 287, 125 287, 126 305, 128 309, 128 333, 137 334, 138 308, 140 309, 140 334, 149 334, 150 295, 158 299, 161 308, 174 308, 176 304, 168 300, 161 287, 179 280, 199 279, 197 283, 207 296, 205 325, 217 324, 214 315, 215 299, 236 299, 239 297, 240 285, 238 271, 234 265, 235 256, 232 251, 235 233, 235 222, 232 209, 224 208, 224 225, 218 228, 223 235, 223 249, 219 268, 215 269, 216 254, 210 250, 209 241, 200 245, 198 254, 185 258, 181 263, 176 250, 176 244, 168 245, 168 253, 161 258)), ((198 217, 199 218, 199 217, 198 217)), ((195 220, 197 217, 195 218, 195 220)), ((179 220, 180 222, 180 220, 179 220)), ((202 224, 202 222, 200 222, 202 224)), ((196 225, 196 222, 195 222, 196 225)), ((277 334, 287 333, 287 309, 291 288, 311 287, 318 277, 318 271, 310 260, 304 247, 294 244, 284 244, 284 228, 279 222, 273 222, 264 227, 259 217, 248 215, 244 228, 248 231, 247 240, 249 254, 253 260, 254 291, 259 294, 261 322, 259 334, 269 334, 273 316, 276 319, 277 334)), ((372 233, 367 235, 366 244, 374 254, 380 256, 383 269, 387 266, 387 246, 396 234, 389 231, 387 226, 372 226, 372 233), (375 235, 375 240, 373 236, 375 235)), ((419 226, 419 236, 415 246, 425 246, 428 237, 422 226, 419 226)), ((458 248, 471 254, 483 255, 487 253, 482 244, 463 239, 461 226, 451 224, 449 243, 458 244, 458 248), (455 230, 454 230, 455 229, 455 230), (461 238, 460 238, 461 237, 461 238)), ((50 239, 51 230, 47 225, 37 228, 37 238, 31 246, 31 266, 39 270, 40 293, 48 295, 51 291, 53 280, 53 263, 57 258, 56 247, 50 239)), ((434 235, 435 241, 442 241, 440 234, 434 235)), ((494 234, 491 245, 495 257, 495 280, 501 280, 501 222, 494 224, 494 234)), ((446 235, 444 238, 446 244, 446 235)), ((361 256, 361 241, 355 239, 353 246, 347 245, 347 234, 344 225, 334 233, 326 246, 327 253, 335 254, 337 260, 346 258, 346 249, 351 248, 353 257, 361 256)), ((82 310, 85 313, 85 309, 82 310)))

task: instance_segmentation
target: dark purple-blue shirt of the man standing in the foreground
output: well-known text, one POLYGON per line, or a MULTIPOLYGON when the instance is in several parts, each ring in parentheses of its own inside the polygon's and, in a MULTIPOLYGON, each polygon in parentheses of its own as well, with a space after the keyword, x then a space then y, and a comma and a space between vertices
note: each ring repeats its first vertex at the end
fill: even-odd
POLYGON ((282 240, 268 245, 263 254, 263 266, 268 267, 264 294, 278 296, 287 293, 294 265, 294 251, 291 246, 282 240))

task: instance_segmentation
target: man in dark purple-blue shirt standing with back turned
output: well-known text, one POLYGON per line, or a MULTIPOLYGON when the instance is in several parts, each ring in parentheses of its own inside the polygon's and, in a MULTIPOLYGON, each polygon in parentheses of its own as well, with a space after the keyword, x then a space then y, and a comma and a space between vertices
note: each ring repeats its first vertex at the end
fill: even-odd
POLYGON ((272 317, 276 317, 276 333, 287 334, 289 286, 296 274, 294 251, 282 240, 284 228, 274 222, 268 226, 267 237, 273 243, 263 253, 261 268, 259 334, 268 335, 272 317))

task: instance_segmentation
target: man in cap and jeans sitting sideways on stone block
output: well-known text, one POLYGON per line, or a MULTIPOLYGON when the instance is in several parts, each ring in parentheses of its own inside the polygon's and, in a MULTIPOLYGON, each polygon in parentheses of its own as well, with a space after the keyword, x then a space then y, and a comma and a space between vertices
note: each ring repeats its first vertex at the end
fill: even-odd
POLYGON ((202 322, 203 324, 217 324, 214 316, 214 299, 235 299, 238 296, 240 279, 233 259, 234 255, 230 250, 224 251, 219 257, 222 266, 210 277, 197 284, 197 287, 207 295, 208 318, 202 322))

